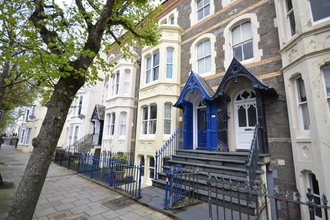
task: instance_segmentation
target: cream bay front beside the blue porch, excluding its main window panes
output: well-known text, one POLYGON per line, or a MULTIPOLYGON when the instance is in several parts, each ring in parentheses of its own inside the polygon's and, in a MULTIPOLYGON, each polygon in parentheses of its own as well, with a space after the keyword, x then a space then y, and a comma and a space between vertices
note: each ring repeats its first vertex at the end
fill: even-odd
MULTIPOLYGON (((169 12, 168 14, 171 14, 169 12)), ((176 19, 175 19, 176 21, 176 19)), ((155 151, 161 148, 170 137, 164 134, 164 105, 170 104, 170 133, 174 133, 179 127, 179 109, 172 107, 180 94, 180 61, 181 61, 181 34, 183 30, 175 24, 162 24, 159 26, 158 45, 144 47, 142 50, 140 89, 137 106, 137 129, 135 146, 135 163, 140 164, 144 159, 144 184, 151 184, 153 175, 153 159, 155 151), (173 50, 173 74, 172 78, 166 78, 167 50, 173 50), (146 60, 148 56, 159 52, 159 76, 157 80, 146 83, 146 60), (157 106, 157 120, 155 133, 144 134, 142 132, 143 109, 149 106, 157 106)))

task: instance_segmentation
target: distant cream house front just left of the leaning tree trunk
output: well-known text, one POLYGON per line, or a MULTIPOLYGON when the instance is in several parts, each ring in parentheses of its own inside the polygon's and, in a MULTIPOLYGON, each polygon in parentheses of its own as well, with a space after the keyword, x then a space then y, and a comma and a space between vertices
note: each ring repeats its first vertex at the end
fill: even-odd
POLYGON ((19 129, 17 148, 23 152, 32 152, 32 139, 39 134, 47 107, 42 107, 39 101, 33 102, 31 107, 25 108, 19 129))

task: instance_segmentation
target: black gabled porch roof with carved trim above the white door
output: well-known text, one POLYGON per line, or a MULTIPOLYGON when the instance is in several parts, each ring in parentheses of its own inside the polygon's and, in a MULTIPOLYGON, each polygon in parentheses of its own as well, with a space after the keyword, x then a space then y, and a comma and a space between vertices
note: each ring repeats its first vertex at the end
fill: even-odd
POLYGON ((263 84, 258 78, 256 78, 256 76, 254 76, 254 74, 252 74, 239 61, 237 61, 236 58, 232 58, 232 63, 230 63, 227 72, 225 72, 225 76, 223 76, 221 83, 217 91, 214 93, 214 96, 212 96, 212 98, 214 99, 219 96, 226 96, 223 91, 225 85, 229 83, 230 80, 234 80, 234 83, 238 83, 239 77, 248 78, 254 89, 261 89, 265 91, 267 94, 272 94, 272 95, 277 94, 274 88, 263 84))

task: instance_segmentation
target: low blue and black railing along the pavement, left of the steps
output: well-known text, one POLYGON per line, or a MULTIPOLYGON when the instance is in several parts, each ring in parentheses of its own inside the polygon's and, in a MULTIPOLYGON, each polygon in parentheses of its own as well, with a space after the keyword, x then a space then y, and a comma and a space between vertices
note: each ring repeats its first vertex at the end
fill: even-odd
POLYGON ((133 165, 131 158, 131 152, 97 156, 57 149, 54 163, 140 199, 143 167, 133 165))

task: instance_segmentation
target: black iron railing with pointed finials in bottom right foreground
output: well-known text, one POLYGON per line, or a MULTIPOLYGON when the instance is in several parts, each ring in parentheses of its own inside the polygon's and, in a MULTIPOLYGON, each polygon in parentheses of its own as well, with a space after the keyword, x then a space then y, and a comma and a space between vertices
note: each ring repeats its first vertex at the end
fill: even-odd
POLYGON ((310 188, 307 188, 306 193, 308 201, 302 201, 299 192, 290 193, 286 189, 279 192, 274 188, 270 193, 265 185, 258 187, 254 184, 250 188, 248 181, 241 184, 238 179, 228 183, 223 178, 221 180, 209 177, 207 186, 210 220, 300 219, 299 206, 308 208, 311 220, 316 219, 316 214, 321 219, 329 219, 330 206, 327 206, 327 197, 322 195, 321 202, 316 203, 310 188), (274 204, 273 208, 271 203, 274 204))

